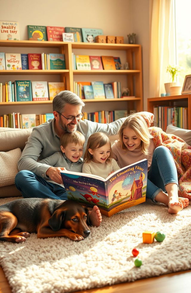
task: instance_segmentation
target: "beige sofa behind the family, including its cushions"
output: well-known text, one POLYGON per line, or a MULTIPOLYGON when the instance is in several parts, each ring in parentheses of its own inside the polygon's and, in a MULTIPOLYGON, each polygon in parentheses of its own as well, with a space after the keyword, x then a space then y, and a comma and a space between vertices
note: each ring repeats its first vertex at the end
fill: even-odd
MULTIPOLYGON (((25 142, 32 132, 30 129, 13 129, 0 127, 0 197, 21 196, 14 184, 18 172, 17 163, 24 149, 25 142)), ((191 145, 191 130, 168 126, 167 133, 173 133, 191 145)), ((113 143, 116 135, 110 136, 113 143)))

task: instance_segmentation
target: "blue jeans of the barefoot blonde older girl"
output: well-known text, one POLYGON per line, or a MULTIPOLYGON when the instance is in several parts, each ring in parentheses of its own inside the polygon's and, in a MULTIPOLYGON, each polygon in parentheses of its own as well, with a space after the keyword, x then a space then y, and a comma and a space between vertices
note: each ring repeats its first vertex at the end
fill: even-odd
POLYGON ((148 172, 146 197, 155 201, 156 195, 165 190, 168 183, 178 185, 178 175, 174 159, 167 147, 157 147, 153 152, 153 159, 148 172))

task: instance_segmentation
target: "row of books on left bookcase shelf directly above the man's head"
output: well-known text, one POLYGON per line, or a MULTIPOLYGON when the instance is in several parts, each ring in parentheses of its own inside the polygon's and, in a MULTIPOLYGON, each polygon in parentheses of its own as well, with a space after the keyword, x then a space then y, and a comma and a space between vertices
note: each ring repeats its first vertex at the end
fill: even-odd
POLYGON ((53 100, 66 89, 65 82, 15 80, 0 82, 0 102, 28 102, 53 100))

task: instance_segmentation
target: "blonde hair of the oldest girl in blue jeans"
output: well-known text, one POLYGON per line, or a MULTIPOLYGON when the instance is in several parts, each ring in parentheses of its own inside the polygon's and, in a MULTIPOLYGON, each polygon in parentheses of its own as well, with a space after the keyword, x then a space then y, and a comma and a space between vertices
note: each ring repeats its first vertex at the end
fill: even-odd
POLYGON ((127 149, 123 142, 123 131, 126 127, 132 129, 136 133, 136 136, 141 140, 141 152, 148 155, 150 138, 153 138, 153 136, 150 135, 147 122, 144 118, 139 113, 134 113, 129 115, 121 125, 118 131, 118 142, 120 143, 122 149, 127 149))

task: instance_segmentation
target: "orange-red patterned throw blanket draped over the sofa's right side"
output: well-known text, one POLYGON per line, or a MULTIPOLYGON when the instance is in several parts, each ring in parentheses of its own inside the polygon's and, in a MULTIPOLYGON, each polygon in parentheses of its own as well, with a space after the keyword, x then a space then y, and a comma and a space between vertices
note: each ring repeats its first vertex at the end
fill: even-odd
POLYGON ((191 200, 191 146, 173 134, 167 134, 159 127, 150 127, 155 147, 165 146, 170 149, 177 173, 179 191, 178 195, 191 200))

